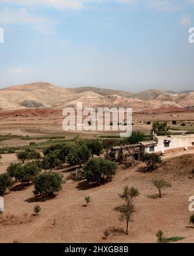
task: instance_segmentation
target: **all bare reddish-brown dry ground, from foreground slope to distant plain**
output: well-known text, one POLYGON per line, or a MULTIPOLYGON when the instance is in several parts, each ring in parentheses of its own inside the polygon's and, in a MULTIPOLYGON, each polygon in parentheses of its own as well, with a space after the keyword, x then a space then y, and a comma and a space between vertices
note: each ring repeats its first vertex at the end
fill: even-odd
MULTIPOLYGON (((36 113, 36 110, 0 112, 0 134, 12 135, 64 135, 61 130, 61 111, 49 110, 36 113)), ((193 120, 193 113, 179 113, 180 120, 193 120)), ((166 114, 166 119, 169 114, 166 114)), ((155 115, 135 114, 135 119, 163 120, 164 113, 155 115)), ((174 118, 173 118, 174 119, 174 118)), ((146 124, 136 124, 137 130, 147 130, 146 124)), ((72 137, 74 134, 65 134, 72 137)), ((95 137, 96 134, 83 133, 82 137, 95 137)), ((29 141, 9 139, 1 145, 28 145, 29 141)), ((3 173, 15 154, 2 155, 0 172, 3 173)), ((194 242, 194 228, 189 224, 188 198, 194 195, 194 150, 171 153, 163 157, 162 165, 154 172, 144 172, 145 165, 133 167, 118 166, 113 180, 98 187, 87 185, 85 181, 67 180, 62 191, 55 198, 34 197, 33 185, 21 187, 17 183, 5 194, 5 213, 0 217, 0 242, 156 242, 155 233, 162 229, 166 237, 185 237, 180 242, 194 242), (172 187, 164 191, 163 197, 151 180, 162 178, 171 182, 172 187), (115 207, 122 204, 118 193, 125 185, 137 187, 140 196, 135 199, 136 213, 130 222, 129 236, 123 233, 125 224, 120 222, 115 207), (91 196, 89 207, 83 207, 85 196, 91 196), (39 216, 33 216, 34 205, 41 206, 39 216), (103 240, 103 231, 109 229, 111 235, 103 240)), ((66 167, 54 170, 63 172, 66 167)))

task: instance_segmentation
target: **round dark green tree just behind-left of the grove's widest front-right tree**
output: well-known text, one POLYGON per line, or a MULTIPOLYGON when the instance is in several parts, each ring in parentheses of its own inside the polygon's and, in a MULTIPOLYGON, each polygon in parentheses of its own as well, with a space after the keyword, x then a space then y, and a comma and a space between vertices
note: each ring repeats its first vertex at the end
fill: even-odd
POLYGON ((70 150, 69 155, 66 157, 67 163, 69 165, 81 165, 86 163, 91 156, 90 150, 87 148, 86 145, 76 146, 70 150))

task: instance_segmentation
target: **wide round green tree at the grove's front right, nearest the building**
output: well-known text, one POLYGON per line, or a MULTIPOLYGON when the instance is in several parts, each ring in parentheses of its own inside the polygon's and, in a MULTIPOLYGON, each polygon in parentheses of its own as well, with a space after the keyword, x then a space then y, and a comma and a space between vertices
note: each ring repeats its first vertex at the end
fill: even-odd
POLYGON ((83 169, 83 176, 88 181, 103 182, 116 174, 116 163, 103 158, 89 159, 83 169))

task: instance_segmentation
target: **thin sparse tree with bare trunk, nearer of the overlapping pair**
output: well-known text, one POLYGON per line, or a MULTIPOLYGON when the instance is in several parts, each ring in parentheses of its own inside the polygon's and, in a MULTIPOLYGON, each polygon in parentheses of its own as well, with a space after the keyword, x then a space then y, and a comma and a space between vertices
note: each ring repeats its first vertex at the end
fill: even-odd
POLYGON ((120 207, 120 221, 126 222, 126 235, 129 235, 129 221, 131 216, 135 213, 135 207, 133 204, 126 204, 120 207))

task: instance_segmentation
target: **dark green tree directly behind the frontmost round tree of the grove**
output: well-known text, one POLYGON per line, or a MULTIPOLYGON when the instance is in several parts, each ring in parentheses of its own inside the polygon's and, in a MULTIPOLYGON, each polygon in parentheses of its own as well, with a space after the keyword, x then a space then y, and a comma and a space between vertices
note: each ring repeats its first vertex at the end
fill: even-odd
POLYGON ((50 152, 47 156, 43 157, 42 167, 43 170, 50 170, 51 172, 52 169, 58 167, 60 163, 61 161, 58 159, 56 152, 50 152))

